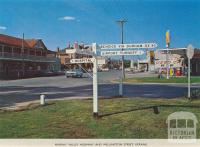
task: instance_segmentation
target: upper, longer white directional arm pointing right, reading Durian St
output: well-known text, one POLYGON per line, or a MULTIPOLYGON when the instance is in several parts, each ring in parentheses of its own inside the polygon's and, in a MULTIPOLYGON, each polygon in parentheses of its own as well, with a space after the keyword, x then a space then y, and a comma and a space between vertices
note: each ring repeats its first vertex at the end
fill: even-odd
POLYGON ((100 44, 101 49, 127 49, 127 48, 156 48, 156 43, 138 43, 138 44, 100 44))

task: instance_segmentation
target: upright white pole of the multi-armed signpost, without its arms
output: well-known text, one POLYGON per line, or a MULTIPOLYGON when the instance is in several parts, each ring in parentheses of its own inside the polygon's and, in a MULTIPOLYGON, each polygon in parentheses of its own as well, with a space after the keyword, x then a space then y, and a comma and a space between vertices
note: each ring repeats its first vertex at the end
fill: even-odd
POLYGON ((93 117, 98 117, 98 73, 97 73, 97 44, 92 44, 92 50, 95 54, 93 63, 93 117))

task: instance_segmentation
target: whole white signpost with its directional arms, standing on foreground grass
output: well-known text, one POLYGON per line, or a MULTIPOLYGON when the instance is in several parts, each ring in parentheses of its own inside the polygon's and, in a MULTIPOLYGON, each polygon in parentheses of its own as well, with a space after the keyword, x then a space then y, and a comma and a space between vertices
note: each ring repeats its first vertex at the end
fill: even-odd
MULTIPOLYGON (((157 47, 155 43, 143 43, 143 44, 107 44, 99 45, 100 49, 121 49, 121 48, 154 48, 157 47)), ((98 118, 98 60, 97 60, 97 44, 92 44, 92 51, 88 52, 89 55, 92 55, 93 58, 86 58, 81 60, 71 60, 73 63, 93 63, 93 116, 98 118)), ((87 54, 86 52, 81 52, 81 54, 87 54)), ((119 56, 119 55, 142 55, 144 51, 142 50, 126 50, 126 51, 102 51, 102 56, 119 56)), ((122 95, 122 85, 119 87, 119 94, 122 95)))

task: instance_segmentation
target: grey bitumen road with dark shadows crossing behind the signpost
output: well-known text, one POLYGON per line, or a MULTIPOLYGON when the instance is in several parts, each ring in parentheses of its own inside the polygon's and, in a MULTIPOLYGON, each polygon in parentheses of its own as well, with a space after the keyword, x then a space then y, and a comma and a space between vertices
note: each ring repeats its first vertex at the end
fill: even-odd
MULTIPOLYGON (((121 71, 99 73, 99 97, 109 98, 118 95, 118 79, 121 71)), ((129 77, 152 76, 150 73, 127 74, 129 77)), ((193 85, 192 89, 199 88, 193 85)), ((177 98, 187 93, 187 84, 124 84, 124 96, 134 98, 177 98)), ((48 100, 83 99, 92 97, 92 79, 66 78, 65 76, 38 77, 21 80, 0 81, 0 107, 16 106, 20 103, 39 100, 45 94, 48 100)))

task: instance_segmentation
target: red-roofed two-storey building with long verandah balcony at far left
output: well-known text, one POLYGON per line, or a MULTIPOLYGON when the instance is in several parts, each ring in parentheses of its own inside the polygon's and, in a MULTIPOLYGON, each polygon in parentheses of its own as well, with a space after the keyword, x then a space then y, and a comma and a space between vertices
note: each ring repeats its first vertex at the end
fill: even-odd
POLYGON ((35 77, 58 70, 59 59, 41 39, 24 40, 0 34, 1 79, 35 77))

